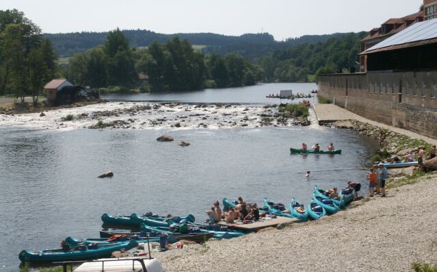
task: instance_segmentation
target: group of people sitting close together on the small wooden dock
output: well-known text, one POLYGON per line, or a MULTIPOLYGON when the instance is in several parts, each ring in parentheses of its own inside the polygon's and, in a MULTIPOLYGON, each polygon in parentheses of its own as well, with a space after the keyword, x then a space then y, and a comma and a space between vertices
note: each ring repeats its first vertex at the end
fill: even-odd
POLYGON ((224 219, 226 223, 234 223, 235 220, 254 220, 258 221, 260 214, 259 208, 256 203, 247 204, 242 197, 235 201, 235 208, 230 206, 229 209, 222 214, 222 209, 220 209, 219 201, 215 201, 210 211, 207 211, 209 216, 209 223, 218 223, 220 220, 224 219))

